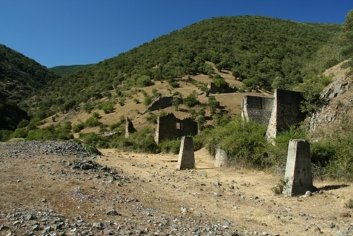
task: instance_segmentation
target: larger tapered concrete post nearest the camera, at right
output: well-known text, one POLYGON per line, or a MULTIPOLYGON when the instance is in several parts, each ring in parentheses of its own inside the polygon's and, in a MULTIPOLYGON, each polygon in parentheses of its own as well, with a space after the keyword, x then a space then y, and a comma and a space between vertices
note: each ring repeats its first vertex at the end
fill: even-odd
POLYGON ((292 139, 288 145, 285 179, 288 181, 283 194, 299 195, 313 191, 310 144, 304 139, 292 139))

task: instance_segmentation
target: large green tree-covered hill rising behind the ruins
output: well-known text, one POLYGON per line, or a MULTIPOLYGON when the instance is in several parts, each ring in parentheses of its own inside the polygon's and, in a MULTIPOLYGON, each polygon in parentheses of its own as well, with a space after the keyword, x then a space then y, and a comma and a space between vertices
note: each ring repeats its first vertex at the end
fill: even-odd
MULTIPOLYGON (((244 89, 271 90, 301 83, 318 50, 340 32, 340 25, 298 23, 262 16, 201 20, 117 57, 69 73, 47 85, 35 98, 41 112, 68 111, 116 91, 141 87, 138 81, 166 81, 174 88, 182 76, 215 76, 226 70, 244 89), (114 90, 113 90, 114 89, 114 90), (42 102, 38 102, 38 101, 42 102)), ((148 83, 147 83, 148 84, 148 83)))

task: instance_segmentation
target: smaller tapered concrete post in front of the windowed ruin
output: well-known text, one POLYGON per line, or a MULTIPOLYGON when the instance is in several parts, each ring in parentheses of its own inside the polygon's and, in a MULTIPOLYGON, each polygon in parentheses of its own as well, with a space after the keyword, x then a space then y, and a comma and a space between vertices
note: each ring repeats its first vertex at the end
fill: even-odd
POLYGON ((193 138, 181 137, 177 170, 194 169, 195 156, 193 155, 193 138))

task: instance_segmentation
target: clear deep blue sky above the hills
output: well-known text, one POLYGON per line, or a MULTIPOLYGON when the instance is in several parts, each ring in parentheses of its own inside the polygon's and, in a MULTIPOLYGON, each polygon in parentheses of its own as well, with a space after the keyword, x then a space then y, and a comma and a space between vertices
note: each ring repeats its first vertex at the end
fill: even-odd
POLYGON ((49 67, 91 64, 217 16, 345 21, 352 0, 1 0, 0 43, 49 67))

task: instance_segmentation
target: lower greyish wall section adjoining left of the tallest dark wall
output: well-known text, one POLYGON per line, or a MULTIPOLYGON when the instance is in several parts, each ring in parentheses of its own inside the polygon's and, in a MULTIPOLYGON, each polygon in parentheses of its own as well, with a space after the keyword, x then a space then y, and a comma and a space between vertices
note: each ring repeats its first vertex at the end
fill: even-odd
POLYGON ((247 121, 268 125, 274 98, 246 96, 241 102, 241 117, 247 121))

